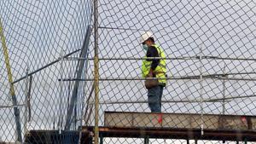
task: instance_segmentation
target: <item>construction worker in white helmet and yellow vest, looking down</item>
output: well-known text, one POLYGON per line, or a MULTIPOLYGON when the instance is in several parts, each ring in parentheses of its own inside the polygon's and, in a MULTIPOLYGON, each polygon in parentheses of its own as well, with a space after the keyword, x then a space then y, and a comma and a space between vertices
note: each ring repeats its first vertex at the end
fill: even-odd
POLYGON ((147 80, 145 81, 145 86, 148 89, 148 106, 151 112, 161 112, 161 98, 163 88, 166 86, 166 55, 163 49, 154 43, 152 32, 144 32, 141 36, 140 43, 143 44, 143 49, 147 51, 145 59, 143 59, 143 78, 152 78, 156 81, 156 83, 148 87, 146 84, 147 80), (149 57, 159 58, 147 59, 149 57))

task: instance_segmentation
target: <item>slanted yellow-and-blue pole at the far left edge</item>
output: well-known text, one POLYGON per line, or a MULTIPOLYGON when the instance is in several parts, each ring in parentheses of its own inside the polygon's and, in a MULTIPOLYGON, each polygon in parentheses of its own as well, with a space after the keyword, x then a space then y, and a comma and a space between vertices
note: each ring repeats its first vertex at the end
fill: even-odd
POLYGON ((1 37, 2 47, 3 47, 4 62, 5 62, 5 66, 6 66, 7 73, 8 73, 10 95, 11 95, 12 103, 13 103, 13 106, 14 106, 14 112, 15 112, 16 131, 17 131, 17 135, 18 135, 17 140, 22 142, 21 126, 20 126, 20 110, 17 107, 17 99, 16 99, 16 95, 15 95, 15 86, 13 84, 13 75, 12 75, 11 67, 10 67, 10 64, 9 64, 9 54, 8 54, 8 49, 7 49, 5 37, 3 35, 3 24, 2 24, 1 19, 0 19, 0 37, 1 37))

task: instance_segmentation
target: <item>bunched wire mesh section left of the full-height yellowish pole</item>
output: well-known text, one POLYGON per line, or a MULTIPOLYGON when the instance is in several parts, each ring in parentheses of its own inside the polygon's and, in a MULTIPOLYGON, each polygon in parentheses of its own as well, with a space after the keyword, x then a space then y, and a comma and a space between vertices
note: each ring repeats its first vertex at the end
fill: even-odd
MULTIPOLYGON (((0 8, 18 101, 18 106, 11 101, 1 45, 1 141, 16 141, 17 135, 24 141, 27 130, 64 130, 67 101, 72 97, 75 83, 62 83, 59 79, 75 77, 79 63, 63 59, 81 54, 91 20, 90 1, 4 0, 0 8), (21 134, 16 130, 14 107, 20 111, 21 134)), ((82 114, 83 85, 77 85, 76 89, 77 119, 81 119, 82 114)), ((81 124, 77 119, 73 120, 70 130, 78 130, 81 124)))

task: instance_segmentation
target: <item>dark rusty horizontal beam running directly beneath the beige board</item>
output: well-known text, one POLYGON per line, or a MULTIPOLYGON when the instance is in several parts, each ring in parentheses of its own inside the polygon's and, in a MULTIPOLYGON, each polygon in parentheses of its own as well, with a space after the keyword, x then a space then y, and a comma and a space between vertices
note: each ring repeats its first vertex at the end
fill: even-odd
MULTIPOLYGON (((83 130, 93 132, 93 127, 83 127, 83 130)), ((248 130, 204 130, 174 128, 117 128, 99 127, 102 137, 183 139, 208 141, 256 141, 256 132, 248 130)))

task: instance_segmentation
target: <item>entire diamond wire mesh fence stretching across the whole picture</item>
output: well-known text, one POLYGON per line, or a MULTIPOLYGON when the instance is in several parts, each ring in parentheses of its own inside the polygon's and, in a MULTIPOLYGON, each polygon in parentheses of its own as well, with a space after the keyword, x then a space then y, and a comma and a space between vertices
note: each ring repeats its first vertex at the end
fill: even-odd
MULTIPOLYGON (((97 37, 92 1, 0 3, 22 138, 26 130, 79 130, 81 125, 94 126, 97 86, 99 126, 113 124, 121 128, 161 130, 163 125, 145 120, 152 120, 152 115, 147 113, 150 112, 148 90, 144 88, 141 72, 146 51, 139 38, 147 31, 154 33, 156 43, 166 54, 168 77, 161 112, 169 114, 163 115, 162 124, 169 124, 168 128, 185 128, 189 119, 186 116, 197 114, 199 118, 194 121, 199 127, 196 128, 207 129, 207 124, 219 123, 213 116, 255 115, 256 3, 253 0, 97 2, 97 37), (95 38, 98 40, 99 85, 93 84, 95 38), (123 117, 111 112, 130 112, 131 121, 141 123, 128 125, 127 118, 131 115, 123 117), (171 115, 177 113, 182 113, 182 117, 173 119, 171 115), (108 121, 112 123, 107 124, 108 121)), ((0 55, 0 95, 3 95, 0 134, 2 141, 15 141, 15 106, 10 100, 2 51, 0 55)), ((251 130, 256 129, 255 123, 250 119, 251 130)), ((69 137, 66 143, 75 139, 71 138, 73 134, 69 137)), ((102 141, 145 142, 143 138, 115 136, 102 141)), ((150 138, 148 142, 188 141, 150 138)))

